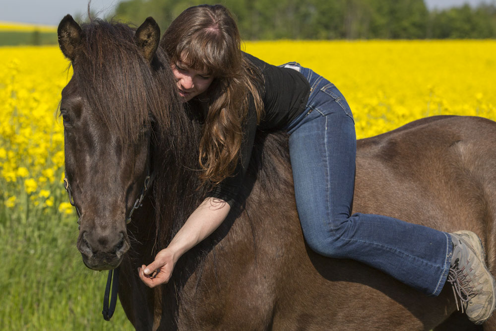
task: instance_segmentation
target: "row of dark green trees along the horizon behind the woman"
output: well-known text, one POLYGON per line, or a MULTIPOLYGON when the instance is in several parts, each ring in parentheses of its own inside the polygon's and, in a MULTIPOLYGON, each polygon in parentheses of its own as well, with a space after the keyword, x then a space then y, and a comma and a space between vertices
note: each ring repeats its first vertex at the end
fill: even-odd
MULTIPOLYGON (((114 17, 162 31, 198 0, 126 0, 114 17)), ((245 40, 495 38, 496 5, 429 10, 424 0, 221 0, 245 40)))

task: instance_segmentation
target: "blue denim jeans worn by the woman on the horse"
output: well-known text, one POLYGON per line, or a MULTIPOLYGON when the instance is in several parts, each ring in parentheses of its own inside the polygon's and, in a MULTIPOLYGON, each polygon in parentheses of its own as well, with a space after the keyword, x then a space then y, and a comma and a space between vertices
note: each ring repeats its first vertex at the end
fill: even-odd
POLYGON ((451 236, 392 217, 350 215, 357 146, 350 107, 327 79, 297 63, 288 65, 311 87, 306 111, 286 127, 307 244, 321 255, 360 261, 438 295, 450 267, 451 236))

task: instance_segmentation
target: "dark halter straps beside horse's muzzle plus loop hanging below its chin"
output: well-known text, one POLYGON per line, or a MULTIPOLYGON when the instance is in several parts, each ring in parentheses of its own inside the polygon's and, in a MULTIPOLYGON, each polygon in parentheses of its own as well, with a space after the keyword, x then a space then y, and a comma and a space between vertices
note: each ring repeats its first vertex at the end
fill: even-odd
MULTIPOLYGON (((134 204, 129 211, 129 215, 127 215, 125 219, 126 225, 131 222, 131 216, 134 210, 138 209, 141 206, 141 201, 146 195, 146 192, 150 189, 150 186, 153 183, 153 180, 155 179, 156 173, 153 172, 150 175, 150 170, 148 170, 148 174, 145 177, 145 181, 143 184, 143 188, 141 189, 141 193, 139 197, 134 201, 134 204)), ((77 224, 78 224, 78 229, 81 227, 81 212, 77 208, 76 204, 74 203, 74 199, 72 198, 72 190, 70 188, 69 181, 67 178, 64 177, 63 179, 63 187, 65 191, 67 191, 67 195, 69 196, 69 203, 76 208, 77 212, 77 224)), ((105 294, 103 296, 103 318, 105 321, 110 321, 112 316, 114 315, 114 312, 116 310, 116 304, 117 304, 117 292, 119 290, 119 270, 120 266, 118 266, 115 269, 110 269, 109 270, 109 275, 107 277, 107 285, 105 286, 105 294), (112 283, 112 296, 110 299, 110 305, 109 305, 109 294, 110 294, 110 287, 112 283)))

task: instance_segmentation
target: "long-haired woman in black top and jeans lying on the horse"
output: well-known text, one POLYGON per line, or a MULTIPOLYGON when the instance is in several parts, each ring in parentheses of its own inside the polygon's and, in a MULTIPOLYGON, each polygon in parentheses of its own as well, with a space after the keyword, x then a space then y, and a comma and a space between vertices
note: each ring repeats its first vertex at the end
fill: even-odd
POLYGON ((311 249, 371 265, 428 295, 438 295, 449 278, 455 298, 470 301, 462 309, 474 323, 491 316, 495 281, 477 235, 448 234, 381 215, 350 215, 355 127, 350 107, 332 83, 297 63, 271 66, 241 52, 236 23, 221 5, 186 9, 165 32, 162 47, 180 95, 203 113, 201 176, 213 189, 170 245, 139 268, 145 284, 167 282, 178 259, 226 218, 258 126, 290 134, 298 214, 311 249))

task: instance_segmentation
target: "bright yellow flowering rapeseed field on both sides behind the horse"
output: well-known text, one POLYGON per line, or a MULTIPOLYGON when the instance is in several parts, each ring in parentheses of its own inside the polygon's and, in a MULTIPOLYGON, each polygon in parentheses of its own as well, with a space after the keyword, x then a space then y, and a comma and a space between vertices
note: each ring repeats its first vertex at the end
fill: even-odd
MULTIPOLYGON (((297 61, 343 92, 359 138, 432 115, 496 120, 496 41, 270 41, 246 51, 297 61)), ((57 47, 0 48, 0 212, 71 213, 56 118, 70 78, 57 47)))

